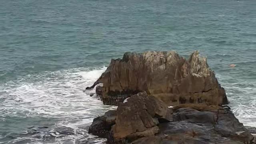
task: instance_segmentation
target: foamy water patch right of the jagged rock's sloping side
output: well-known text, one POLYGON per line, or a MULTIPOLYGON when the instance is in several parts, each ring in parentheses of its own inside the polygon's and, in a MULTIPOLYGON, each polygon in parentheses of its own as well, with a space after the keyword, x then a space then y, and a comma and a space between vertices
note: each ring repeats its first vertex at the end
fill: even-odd
POLYGON ((236 78, 220 74, 216 77, 226 90, 229 106, 236 118, 246 126, 256 126, 256 83, 248 80, 237 82, 236 78))

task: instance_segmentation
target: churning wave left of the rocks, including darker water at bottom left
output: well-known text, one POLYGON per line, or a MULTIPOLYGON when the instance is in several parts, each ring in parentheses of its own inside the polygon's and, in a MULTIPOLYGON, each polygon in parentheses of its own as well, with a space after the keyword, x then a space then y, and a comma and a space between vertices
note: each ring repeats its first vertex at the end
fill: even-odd
POLYGON ((93 118, 116 107, 104 106, 90 97, 93 90, 84 90, 105 70, 106 67, 46 71, 0 84, 0 118, 6 123, 0 130, 0 143, 79 144, 89 139, 104 142, 89 135, 88 127, 93 118))

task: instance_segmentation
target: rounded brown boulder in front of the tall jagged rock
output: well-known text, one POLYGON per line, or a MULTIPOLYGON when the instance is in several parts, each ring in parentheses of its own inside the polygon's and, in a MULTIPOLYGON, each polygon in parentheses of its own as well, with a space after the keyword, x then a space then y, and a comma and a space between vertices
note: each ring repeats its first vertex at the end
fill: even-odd
POLYGON ((126 103, 119 103, 116 110, 116 124, 112 127, 114 142, 126 139, 154 136, 159 122, 172 119, 167 105, 146 93, 133 95, 126 103))

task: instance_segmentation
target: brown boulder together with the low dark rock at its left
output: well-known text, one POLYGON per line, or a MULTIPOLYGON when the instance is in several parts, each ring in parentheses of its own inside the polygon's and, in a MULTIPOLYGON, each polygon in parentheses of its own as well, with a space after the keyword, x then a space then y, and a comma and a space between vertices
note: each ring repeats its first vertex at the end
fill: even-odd
POLYGON ((112 118, 114 122, 107 122, 106 114, 95 118, 89 133, 108 138, 109 143, 154 136, 158 133, 159 123, 172 121, 171 113, 164 102, 146 93, 138 93, 131 96, 128 102, 119 104, 116 116, 112 118))

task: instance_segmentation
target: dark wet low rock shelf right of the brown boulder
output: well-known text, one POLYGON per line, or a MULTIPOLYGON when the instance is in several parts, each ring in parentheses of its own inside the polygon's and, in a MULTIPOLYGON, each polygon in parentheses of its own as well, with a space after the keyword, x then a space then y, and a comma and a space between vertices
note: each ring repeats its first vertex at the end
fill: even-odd
POLYGON ((205 113, 191 108, 180 108, 174 113, 185 116, 180 118, 184 120, 175 121, 174 118, 175 122, 159 124, 158 134, 140 138, 132 144, 253 144, 252 135, 229 110, 205 113), (189 112, 192 113, 192 121, 191 116, 188 116, 189 112), (212 120, 215 123, 200 120, 204 118, 203 115, 206 116, 204 119, 210 118, 209 114, 214 115, 212 120))

